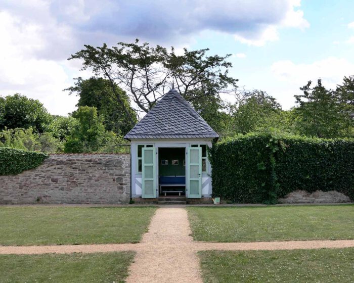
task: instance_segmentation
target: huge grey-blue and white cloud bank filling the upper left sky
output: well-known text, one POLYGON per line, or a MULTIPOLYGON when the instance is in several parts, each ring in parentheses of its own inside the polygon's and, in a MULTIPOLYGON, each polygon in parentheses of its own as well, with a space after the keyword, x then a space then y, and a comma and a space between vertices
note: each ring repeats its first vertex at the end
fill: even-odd
MULTIPOLYGON (((279 39, 281 28, 308 23, 299 0, 0 0, 0 94, 21 92, 39 99, 53 114, 74 109, 76 97, 62 89, 80 73, 66 61, 83 44, 109 45, 140 38, 162 45, 195 43, 195 35, 221 32, 245 44, 279 39), (173 7, 171 9, 171 7, 173 7)), ((238 54, 237 58, 245 55, 238 54)))

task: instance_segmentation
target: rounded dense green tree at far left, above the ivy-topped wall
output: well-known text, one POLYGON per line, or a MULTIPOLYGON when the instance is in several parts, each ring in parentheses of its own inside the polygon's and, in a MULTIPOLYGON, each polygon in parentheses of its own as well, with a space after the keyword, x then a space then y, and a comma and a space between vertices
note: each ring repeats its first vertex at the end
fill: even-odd
POLYGON ((0 124, 0 129, 31 127, 42 132, 52 119, 47 109, 38 100, 26 98, 19 93, 5 97, 4 104, 3 122, 0 124))

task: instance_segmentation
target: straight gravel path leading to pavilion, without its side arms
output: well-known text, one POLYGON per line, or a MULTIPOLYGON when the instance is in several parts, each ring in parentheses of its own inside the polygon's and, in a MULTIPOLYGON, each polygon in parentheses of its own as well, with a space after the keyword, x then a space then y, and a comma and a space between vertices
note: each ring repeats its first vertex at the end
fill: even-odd
POLYGON ((187 211, 160 208, 144 234, 135 262, 130 265, 126 282, 202 283, 199 259, 192 249, 187 211), (188 246, 189 248, 187 248, 188 246))

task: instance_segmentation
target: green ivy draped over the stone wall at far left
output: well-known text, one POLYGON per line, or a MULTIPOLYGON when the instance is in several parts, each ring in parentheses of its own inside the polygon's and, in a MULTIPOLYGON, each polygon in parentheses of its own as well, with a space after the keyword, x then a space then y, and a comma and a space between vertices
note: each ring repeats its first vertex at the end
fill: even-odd
POLYGON ((16 175, 32 169, 48 157, 47 154, 0 147, 0 176, 16 175))

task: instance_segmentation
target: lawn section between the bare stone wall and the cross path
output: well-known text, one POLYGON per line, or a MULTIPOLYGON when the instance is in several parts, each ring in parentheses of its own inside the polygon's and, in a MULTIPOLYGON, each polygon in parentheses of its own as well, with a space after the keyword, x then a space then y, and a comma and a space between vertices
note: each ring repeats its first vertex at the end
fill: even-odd
POLYGON ((0 245, 137 243, 155 207, 0 207, 0 245))

